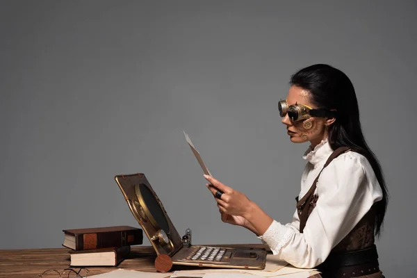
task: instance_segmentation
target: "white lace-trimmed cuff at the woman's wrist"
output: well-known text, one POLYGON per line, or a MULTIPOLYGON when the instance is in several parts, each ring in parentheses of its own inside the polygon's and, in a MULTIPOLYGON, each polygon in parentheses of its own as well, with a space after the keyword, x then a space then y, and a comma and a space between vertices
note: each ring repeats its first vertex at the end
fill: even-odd
POLYGON ((279 254, 282 247, 290 241, 293 234, 293 229, 285 227, 283 224, 274 220, 265 233, 262 236, 258 236, 258 238, 262 240, 264 244, 268 244, 272 254, 276 255, 279 254))

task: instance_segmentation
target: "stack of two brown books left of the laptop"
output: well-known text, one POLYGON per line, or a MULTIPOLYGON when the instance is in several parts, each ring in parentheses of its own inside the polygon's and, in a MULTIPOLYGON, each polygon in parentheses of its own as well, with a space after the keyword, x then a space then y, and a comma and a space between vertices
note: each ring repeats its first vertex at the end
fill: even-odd
POLYGON ((143 241, 142 229, 113 226, 63 230, 63 246, 70 248, 71 266, 117 266, 130 253, 131 245, 143 241))

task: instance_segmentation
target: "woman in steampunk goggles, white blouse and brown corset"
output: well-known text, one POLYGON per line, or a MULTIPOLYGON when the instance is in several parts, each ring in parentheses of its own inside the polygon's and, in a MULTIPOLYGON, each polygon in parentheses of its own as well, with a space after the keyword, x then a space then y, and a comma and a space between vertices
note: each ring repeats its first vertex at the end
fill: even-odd
POLYGON ((388 196, 381 167, 366 144, 350 79, 329 65, 311 65, 291 77, 282 123, 291 142, 310 142, 293 222, 273 220, 243 193, 204 177, 223 222, 243 226, 273 254, 322 277, 384 277, 379 236, 388 196))

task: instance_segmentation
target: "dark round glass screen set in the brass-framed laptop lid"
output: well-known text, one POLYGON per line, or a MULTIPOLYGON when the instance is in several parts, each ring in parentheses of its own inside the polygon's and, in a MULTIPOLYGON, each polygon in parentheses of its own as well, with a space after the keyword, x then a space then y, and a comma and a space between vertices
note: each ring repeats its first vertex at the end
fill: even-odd
POLYGON ((169 233, 170 227, 168 226, 165 213, 163 212, 161 206, 159 205, 152 191, 143 183, 140 183, 139 189, 140 189, 140 195, 142 195, 143 202, 145 202, 145 205, 147 206, 147 209, 149 213, 151 214, 151 215, 148 215, 148 217, 152 216, 156 224, 158 224, 159 228, 163 229, 165 233, 169 233))

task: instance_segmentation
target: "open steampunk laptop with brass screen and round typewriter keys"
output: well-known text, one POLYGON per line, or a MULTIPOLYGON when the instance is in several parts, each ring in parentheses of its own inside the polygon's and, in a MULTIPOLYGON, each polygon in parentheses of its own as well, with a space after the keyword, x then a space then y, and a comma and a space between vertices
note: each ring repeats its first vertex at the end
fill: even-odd
MULTIPOLYGON (((133 216, 152 243, 158 256, 169 256, 172 265, 211 268, 263 269, 263 249, 185 245, 145 174, 115 176, 133 216)), ((184 200, 185 201, 185 200, 184 200)), ((179 200, 181 202, 181 200, 179 200)))

